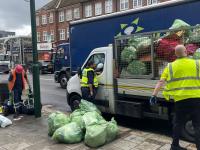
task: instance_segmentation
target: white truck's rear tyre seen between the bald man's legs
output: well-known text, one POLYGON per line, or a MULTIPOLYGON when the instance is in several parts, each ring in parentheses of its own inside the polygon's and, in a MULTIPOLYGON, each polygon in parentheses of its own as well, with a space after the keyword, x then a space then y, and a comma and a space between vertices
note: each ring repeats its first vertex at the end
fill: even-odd
POLYGON ((190 119, 185 121, 182 127, 182 137, 191 142, 195 141, 195 131, 190 119))

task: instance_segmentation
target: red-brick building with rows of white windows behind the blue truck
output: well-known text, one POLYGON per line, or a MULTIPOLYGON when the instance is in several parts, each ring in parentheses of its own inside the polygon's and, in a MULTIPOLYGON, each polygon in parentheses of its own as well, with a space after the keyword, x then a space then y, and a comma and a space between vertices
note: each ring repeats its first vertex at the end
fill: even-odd
POLYGON ((38 49, 68 42, 69 22, 170 0, 52 0, 36 12, 38 49))

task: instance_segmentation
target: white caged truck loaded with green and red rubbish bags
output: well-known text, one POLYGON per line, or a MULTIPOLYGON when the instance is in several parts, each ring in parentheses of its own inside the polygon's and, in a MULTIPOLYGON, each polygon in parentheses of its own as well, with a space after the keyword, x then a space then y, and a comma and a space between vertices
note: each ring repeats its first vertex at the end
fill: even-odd
MULTIPOLYGON (((168 62, 175 60, 174 47, 186 45, 188 54, 199 57, 199 26, 162 30, 116 37, 113 45, 95 48, 78 74, 67 84, 67 102, 74 110, 81 100, 81 71, 89 61, 103 63, 98 75, 99 88, 94 103, 102 112, 135 118, 157 118, 171 121, 173 100, 166 101, 162 91, 158 104, 149 104, 150 96, 168 62), (192 37, 191 37, 192 35, 192 37), (195 37, 196 36, 196 37, 195 37)), ((188 118, 182 136, 194 139, 192 122, 188 118)))

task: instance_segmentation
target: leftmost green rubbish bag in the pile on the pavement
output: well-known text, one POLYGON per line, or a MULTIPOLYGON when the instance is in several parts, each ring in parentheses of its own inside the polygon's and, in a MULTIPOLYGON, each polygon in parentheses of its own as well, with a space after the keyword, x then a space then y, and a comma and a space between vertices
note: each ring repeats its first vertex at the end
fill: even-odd
POLYGON ((48 117, 48 135, 52 136, 56 129, 68 124, 70 117, 62 112, 54 112, 48 117))

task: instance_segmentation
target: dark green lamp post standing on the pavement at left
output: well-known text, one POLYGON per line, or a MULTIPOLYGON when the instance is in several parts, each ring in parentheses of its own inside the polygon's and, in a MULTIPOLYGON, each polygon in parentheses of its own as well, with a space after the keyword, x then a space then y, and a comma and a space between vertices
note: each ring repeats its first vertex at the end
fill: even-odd
POLYGON ((33 92, 34 92, 34 108, 35 117, 41 117, 41 98, 40 98, 40 78, 39 64, 37 52, 37 36, 36 36, 36 21, 35 21, 35 0, 30 0, 31 13, 31 30, 32 30, 32 51, 33 51, 33 92))

